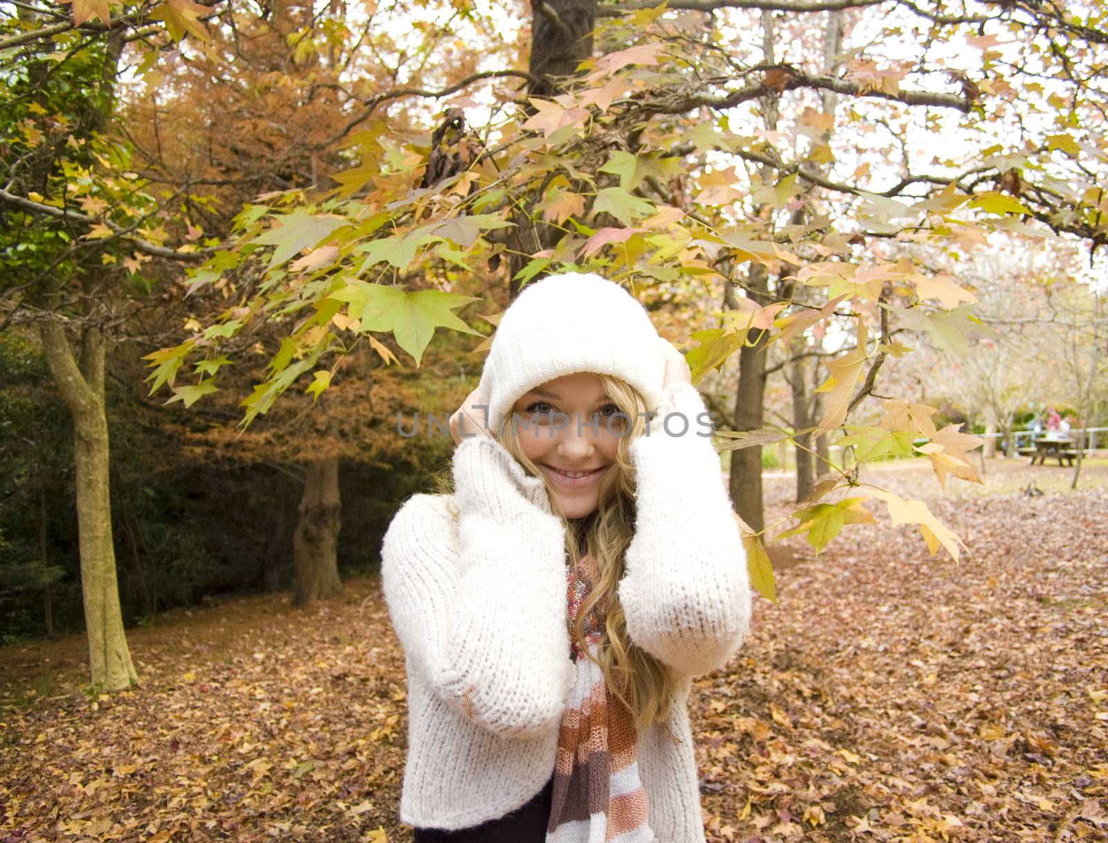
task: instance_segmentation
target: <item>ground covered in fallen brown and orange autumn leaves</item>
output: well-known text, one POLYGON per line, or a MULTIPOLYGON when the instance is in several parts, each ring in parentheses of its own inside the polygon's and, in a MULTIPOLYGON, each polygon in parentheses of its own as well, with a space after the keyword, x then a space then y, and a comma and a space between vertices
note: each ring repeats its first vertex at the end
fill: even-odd
MULTIPOLYGON (((1108 465, 1071 492, 1069 469, 991 461, 945 497, 923 461, 873 473, 970 554, 888 524, 819 557, 789 539, 778 605, 756 598, 690 697, 708 840, 1108 839, 1108 465)), ((769 521, 791 482, 768 477, 769 521)), ((411 840, 378 578, 306 613, 233 597, 127 635, 142 685, 111 695, 86 692, 80 636, 0 649, 0 843, 411 840)))

